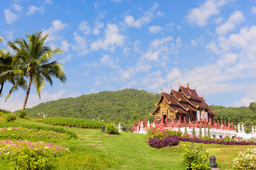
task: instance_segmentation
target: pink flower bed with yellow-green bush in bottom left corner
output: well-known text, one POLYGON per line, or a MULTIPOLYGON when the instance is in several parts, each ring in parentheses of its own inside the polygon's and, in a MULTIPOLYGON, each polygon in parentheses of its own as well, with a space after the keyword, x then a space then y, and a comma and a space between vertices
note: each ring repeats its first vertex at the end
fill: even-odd
POLYGON ((15 169, 47 169, 49 157, 68 154, 68 148, 46 142, 0 141, 0 158, 14 162, 15 169))

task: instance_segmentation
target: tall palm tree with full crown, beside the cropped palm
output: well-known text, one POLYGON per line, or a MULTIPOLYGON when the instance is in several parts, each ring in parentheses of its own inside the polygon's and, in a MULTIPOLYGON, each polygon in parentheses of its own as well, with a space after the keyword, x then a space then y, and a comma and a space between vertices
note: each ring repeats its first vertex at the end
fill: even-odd
MULTIPOLYGON (((14 68, 12 72, 29 80, 22 110, 26 107, 32 84, 36 87, 38 96, 41 98, 40 93, 43 86, 45 86, 45 81, 48 81, 53 86, 51 77, 60 79, 63 83, 66 80, 63 65, 58 63, 57 60, 50 62, 56 54, 61 54, 62 50, 60 48, 51 50, 50 47, 46 46, 44 43, 48 35, 42 36, 42 33, 43 31, 26 35, 28 42, 24 39, 17 40, 16 42, 8 42, 9 47, 16 52, 12 63, 14 68)), ((16 90, 17 88, 18 86, 14 85, 12 89, 16 90)), ((6 99, 11 95, 12 89, 9 91, 6 99)))

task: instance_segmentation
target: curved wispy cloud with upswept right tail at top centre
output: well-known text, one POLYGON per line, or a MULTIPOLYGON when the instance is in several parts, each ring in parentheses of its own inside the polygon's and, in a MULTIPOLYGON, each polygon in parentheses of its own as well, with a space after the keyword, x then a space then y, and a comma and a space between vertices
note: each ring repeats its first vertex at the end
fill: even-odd
POLYGON ((133 26, 136 28, 141 28, 144 24, 149 23, 151 21, 151 18, 154 17, 153 13, 158 8, 158 4, 154 2, 153 6, 149 8, 149 11, 146 11, 144 13, 144 16, 141 18, 138 18, 137 20, 134 19, 134 16, 127 15, 124 18, 124 22, 127 23, 128 26, 133 26))

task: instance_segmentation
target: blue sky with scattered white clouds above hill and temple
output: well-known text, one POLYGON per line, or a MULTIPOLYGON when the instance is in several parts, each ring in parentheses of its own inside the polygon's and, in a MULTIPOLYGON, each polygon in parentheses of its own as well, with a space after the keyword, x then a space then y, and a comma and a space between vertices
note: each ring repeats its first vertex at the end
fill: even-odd
MULTIPOLYGON (((208 104, 256 101, 256 1, 11 0, 1 2, 5 41, 43 30, 68 81, 46 83, 39 100, 125 88, 160 93, 178 81, 208 104)), ((5 43, 0 48, 6 47, 5 43)), ((4 86, 0 108, 20 109, 25 92, 4 86)))

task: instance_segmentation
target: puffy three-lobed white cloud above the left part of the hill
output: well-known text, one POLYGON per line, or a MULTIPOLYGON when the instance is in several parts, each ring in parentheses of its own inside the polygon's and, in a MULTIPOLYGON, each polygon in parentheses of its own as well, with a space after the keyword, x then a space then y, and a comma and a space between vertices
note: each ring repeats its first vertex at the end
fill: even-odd
POLYGON ((121 47, 124 44, 124 38, 124 35, 119 34, 117 25, 109 23, 105 29, 105 38, 92 42, 90 47, 92 50, 114 50, 115 45, 121 47))

